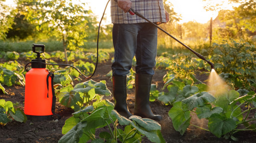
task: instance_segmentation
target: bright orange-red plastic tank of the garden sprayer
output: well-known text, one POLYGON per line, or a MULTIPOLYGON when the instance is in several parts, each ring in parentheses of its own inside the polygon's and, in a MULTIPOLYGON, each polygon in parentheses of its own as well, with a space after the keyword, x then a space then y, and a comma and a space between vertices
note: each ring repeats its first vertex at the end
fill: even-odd
MULTIPOLYGON (((24 113, 31 116, 52 115, 52 90, 47 89, 46 78, 48 71, 44 68, 32 68, 25 76, 25 103, 24 113), (50 92, 48 92, 50 91, 50 92), (48 93, 48 97, 47 97, 48 93)), ((48 85, 51 85, 51 77, 48 77, 48 85)))

